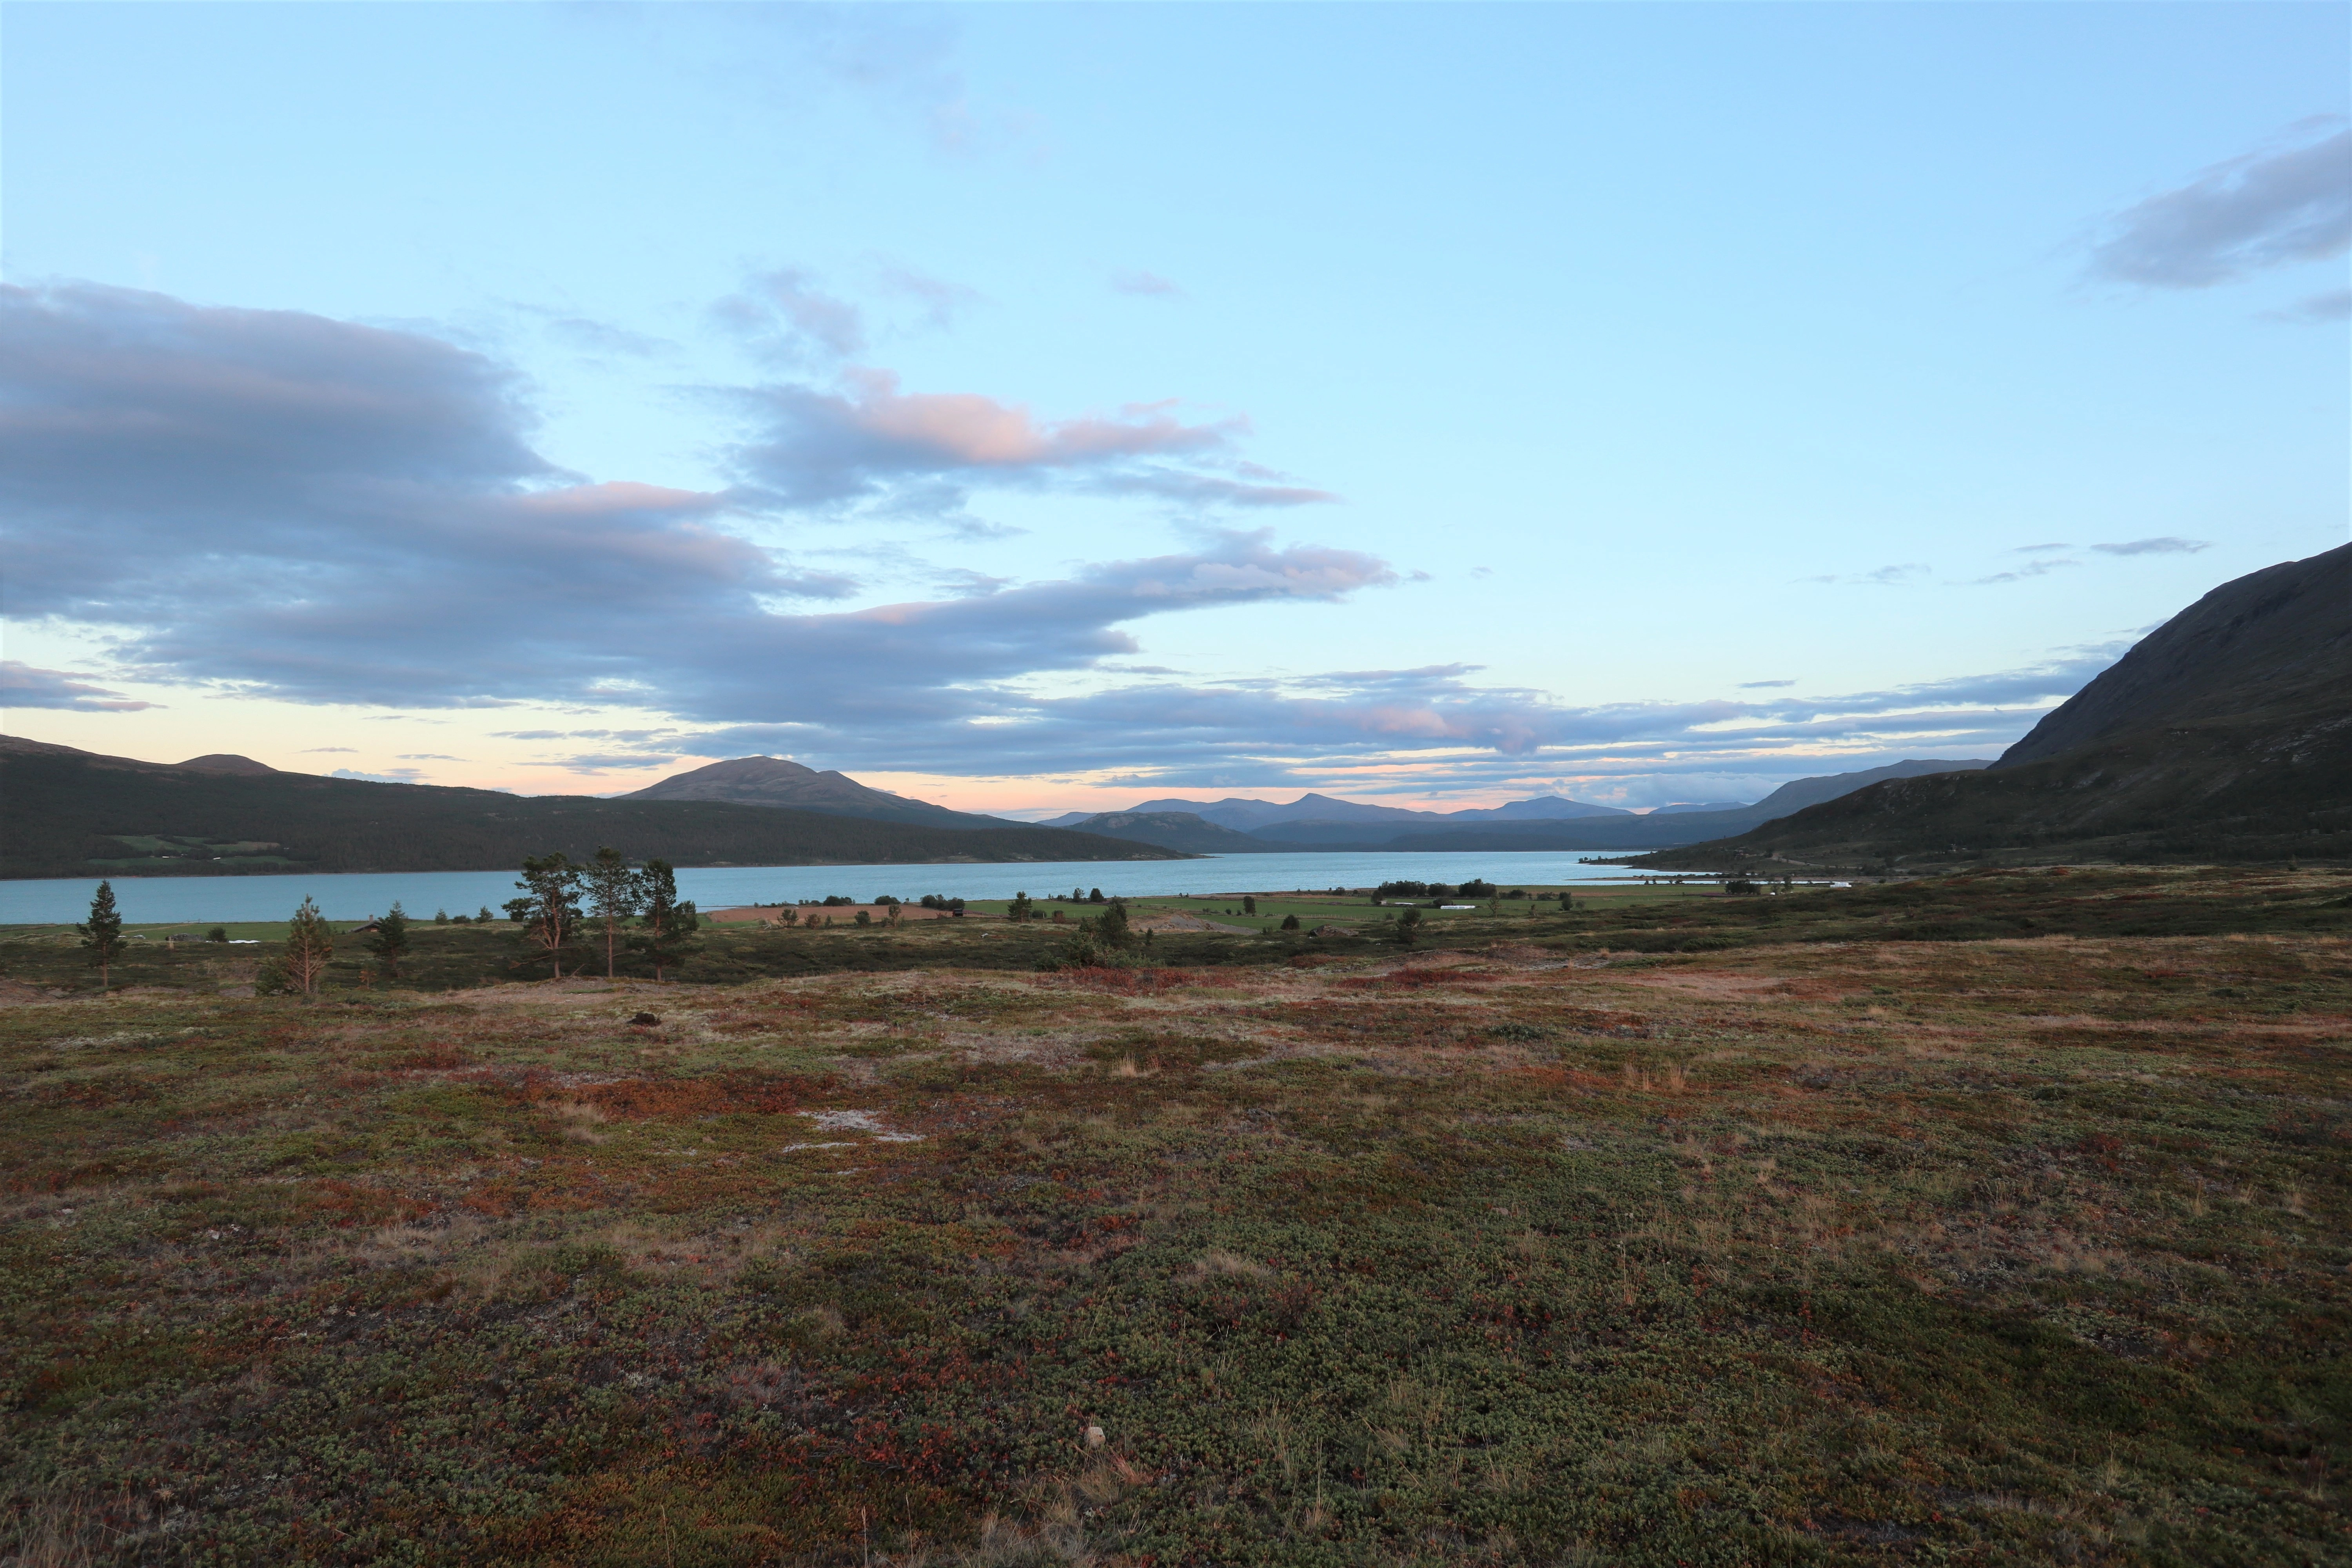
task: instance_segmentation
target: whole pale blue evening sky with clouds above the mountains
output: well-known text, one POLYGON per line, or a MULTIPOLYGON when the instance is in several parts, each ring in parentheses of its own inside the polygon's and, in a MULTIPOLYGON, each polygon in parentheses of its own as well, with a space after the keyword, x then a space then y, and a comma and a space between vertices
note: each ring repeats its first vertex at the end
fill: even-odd
POLYGON ((974 811, 1994 757, 2347 536, 2343 5, 0 5, 0 729, 974 811))

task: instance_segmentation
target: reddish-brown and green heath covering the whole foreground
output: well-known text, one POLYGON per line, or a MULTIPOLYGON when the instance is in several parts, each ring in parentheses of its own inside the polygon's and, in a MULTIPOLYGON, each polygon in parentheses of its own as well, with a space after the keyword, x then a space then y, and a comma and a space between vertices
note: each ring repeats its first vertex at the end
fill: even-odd
POLYGON ((322 1001, 0 943, 0 1559, 2347 1561, 2347 889, 322 1001))

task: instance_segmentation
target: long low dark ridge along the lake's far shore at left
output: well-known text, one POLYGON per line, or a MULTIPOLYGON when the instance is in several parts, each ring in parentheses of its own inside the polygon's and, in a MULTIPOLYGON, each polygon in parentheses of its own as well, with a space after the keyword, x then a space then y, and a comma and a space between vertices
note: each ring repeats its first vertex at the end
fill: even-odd
POLYGON ((1181 858, 1054 827, 957 830, 734 802, 522 797, 223 771, 9 736, 0 736, 0 877, 463 872, 548 851, 583 860, 600 844, 675 865, 1181 858))

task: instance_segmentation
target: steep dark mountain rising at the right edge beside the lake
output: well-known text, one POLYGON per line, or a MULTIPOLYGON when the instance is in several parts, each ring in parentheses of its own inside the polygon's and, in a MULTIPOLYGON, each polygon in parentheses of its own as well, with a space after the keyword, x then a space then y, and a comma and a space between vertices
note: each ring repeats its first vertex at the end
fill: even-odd
POLYGON ((2223 583, 1990 769, 1891 778, 1658 865, 2352 856, 2352 545, 2223 583))

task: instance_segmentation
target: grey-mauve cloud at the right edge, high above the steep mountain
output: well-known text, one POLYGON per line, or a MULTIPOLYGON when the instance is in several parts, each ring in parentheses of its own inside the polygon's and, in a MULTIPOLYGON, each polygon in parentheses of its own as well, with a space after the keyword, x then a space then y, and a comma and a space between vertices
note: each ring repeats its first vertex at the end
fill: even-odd
POLYGON ((2209 289, 2352 247, 2352 129, 2199 172, 2119 212, 2091 273, 2150 289, 2209 289))

